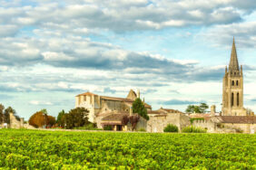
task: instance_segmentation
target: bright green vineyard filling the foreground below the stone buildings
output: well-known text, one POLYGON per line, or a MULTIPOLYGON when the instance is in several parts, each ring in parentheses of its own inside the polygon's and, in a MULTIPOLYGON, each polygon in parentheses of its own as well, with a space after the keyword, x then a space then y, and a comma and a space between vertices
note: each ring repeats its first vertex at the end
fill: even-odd
POLYGON ((256 136, 0 129, 0 169, 256 169, 256 136))

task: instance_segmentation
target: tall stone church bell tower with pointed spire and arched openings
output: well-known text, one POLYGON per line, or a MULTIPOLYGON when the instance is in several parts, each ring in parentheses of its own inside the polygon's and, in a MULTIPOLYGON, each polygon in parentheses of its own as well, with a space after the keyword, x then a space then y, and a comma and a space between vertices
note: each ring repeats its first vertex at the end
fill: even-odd
POLYGON ((222 88, 222 116, 246 116, 243 108, 243 76, 233 39, 229 69, 225 69, 222 88))

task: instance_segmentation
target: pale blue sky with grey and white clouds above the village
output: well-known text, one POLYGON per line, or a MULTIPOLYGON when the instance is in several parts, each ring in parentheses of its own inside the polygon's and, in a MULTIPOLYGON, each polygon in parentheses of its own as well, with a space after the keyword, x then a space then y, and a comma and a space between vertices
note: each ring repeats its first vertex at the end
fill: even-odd
POLYGON ((0 103, 28 119, 89 90, 221 111, 235 37, 244 107, 256 110, 255 0, 0 0, 0 103))

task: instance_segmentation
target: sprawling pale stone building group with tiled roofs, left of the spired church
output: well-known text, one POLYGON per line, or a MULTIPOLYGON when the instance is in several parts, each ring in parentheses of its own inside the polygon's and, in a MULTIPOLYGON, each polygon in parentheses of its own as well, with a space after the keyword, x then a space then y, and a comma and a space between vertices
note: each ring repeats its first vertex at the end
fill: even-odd
MULTIPOLYGON (((130 90, 126 98, 116 98, 96 95, 85 92, 76 96, 75 107, 84 107, 89 110, 89 120, 96 123, 97 127, 111 126, 116 131, 131 131, 132 125, 123 122, 124 117, 137 115, 133 113, 133 101, 140 98, 140 91, 137 94, 130 90)), ((147 132, 163 132, 168 124, 179 127, 189 125, 189 117, 181 111, 174 109, 152 110, 152 107, 143 101, 147 109, 149 120, 140 117, 134 130, 145 130, 147 132)))

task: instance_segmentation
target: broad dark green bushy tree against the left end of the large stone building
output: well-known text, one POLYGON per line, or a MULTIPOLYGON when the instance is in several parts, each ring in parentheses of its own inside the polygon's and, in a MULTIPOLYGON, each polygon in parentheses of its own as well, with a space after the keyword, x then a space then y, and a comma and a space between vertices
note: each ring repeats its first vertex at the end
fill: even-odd
POLYGON ((89 124, 88 113, 89 111, 84 108, 71 109, 68 114, 64 115, 66 127, 83 127, 84 125, 89 124))

